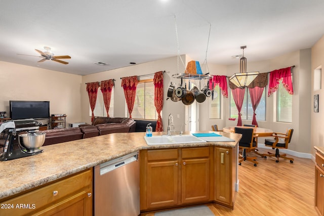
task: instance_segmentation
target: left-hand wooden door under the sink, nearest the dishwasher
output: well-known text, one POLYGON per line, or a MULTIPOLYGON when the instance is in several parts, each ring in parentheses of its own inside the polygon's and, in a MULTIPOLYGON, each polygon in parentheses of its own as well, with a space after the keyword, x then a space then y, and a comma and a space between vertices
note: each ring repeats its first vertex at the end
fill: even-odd
POLYGON ((147 207, 178 203, 178 160, 147 163, 147 207))

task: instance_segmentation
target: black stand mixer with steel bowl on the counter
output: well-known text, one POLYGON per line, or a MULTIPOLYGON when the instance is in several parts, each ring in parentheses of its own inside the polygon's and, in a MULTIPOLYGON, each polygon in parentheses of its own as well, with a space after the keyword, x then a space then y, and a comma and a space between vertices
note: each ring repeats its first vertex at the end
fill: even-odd
POLYGON ((38 122, 32 119, 11 120, 0 124, 0 133, 4 132, 4 153, 0 161, 13 160, 42 153, 39 149, 45 142, 45 133, 39 133, 38 122))

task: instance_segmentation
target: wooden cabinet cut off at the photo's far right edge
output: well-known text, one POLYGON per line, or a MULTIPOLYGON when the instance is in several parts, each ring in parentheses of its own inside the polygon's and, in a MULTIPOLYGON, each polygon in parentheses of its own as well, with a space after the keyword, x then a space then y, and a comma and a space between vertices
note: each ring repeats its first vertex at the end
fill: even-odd
POLYGON ((315 161, 315 209, 324 215, 324 156, 316 152, 315 161))

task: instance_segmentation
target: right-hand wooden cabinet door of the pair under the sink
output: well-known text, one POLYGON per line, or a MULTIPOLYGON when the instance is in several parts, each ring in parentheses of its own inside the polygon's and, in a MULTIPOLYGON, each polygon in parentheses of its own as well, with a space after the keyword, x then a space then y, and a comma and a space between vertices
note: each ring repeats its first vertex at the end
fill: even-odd
POLYGON ((182 203, 210 199, 210 159, 186 159, 181 164, 182 203))

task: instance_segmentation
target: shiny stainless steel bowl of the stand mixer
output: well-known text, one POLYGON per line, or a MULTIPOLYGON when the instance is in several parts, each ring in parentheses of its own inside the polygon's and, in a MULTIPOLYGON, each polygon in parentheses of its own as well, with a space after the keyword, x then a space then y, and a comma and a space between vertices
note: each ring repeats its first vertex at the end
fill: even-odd
POLYGON ((19 144, 28 149, 37 149, 43 146, 45 142, 46 133, 37 132, 37 133, 28 133, 19 135, 19 144))

